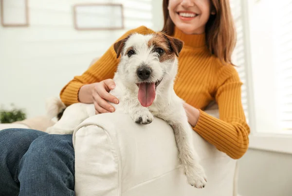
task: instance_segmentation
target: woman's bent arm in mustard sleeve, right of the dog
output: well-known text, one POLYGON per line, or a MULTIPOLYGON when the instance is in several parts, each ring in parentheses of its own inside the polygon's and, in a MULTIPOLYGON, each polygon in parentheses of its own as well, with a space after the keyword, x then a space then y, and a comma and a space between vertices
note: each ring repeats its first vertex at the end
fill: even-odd
POLYGON ((241 85, 237 71, 226 66, 219 71, 216 101, 219 119, 201 109, 185 105, 193 129, 219 151, 233 159, 241 158, 248 149, 250 128, 241 103, 241 85))

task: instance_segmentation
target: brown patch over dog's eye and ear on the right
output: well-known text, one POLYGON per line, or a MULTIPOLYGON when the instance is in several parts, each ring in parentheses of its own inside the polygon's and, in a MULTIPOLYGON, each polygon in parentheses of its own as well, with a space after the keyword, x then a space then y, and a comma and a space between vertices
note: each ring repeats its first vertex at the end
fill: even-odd
POLYGON ((148 47, 153 46, 154 52, 162 49, 164 53, 159 55, 159 61, 174 59, 175 55, 179 57, 179 53, 183 49, 183 41, 175 37, 167 36, 163 33, 156 33, 148 41, 148 47))

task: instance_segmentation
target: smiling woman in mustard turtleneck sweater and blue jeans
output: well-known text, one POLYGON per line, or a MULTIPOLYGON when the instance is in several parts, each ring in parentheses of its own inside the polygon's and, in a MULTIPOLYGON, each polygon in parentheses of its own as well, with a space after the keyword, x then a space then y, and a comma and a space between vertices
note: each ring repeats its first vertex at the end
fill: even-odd
MULTIPOLYGON (((175 91, 185 100, 189 124, 206 141, 233 159, 248 148, 249 126, 241 104, 241 85, 231 62, 235 32, 228 1, 164 0, 164 28, 184 41, 175 91), (203 111, 212 100, 220 119, 203 111)), ((127 32, 149 34, 142 26, 127 32)), ((96 113, 113 112, 105 100, 118 103, 108 92, 118 64, 113 47, 60 92, 66 105, 94 103, 96 113)), ((48 135, 37 130, 0 132, 0 195, 73 195, 72 135, 48 135), (15 146, 13 143, 17 143, 15 146), (20 189, 19 189, 20 183, 20 189)))

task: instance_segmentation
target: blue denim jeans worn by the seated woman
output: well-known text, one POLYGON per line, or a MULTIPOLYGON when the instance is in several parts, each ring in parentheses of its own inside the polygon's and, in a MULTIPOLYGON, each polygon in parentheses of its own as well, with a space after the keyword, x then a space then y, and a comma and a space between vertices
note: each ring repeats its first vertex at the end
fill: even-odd
POLYGON ((0 131, 0 196, 73 196, 72 135, 0 131))

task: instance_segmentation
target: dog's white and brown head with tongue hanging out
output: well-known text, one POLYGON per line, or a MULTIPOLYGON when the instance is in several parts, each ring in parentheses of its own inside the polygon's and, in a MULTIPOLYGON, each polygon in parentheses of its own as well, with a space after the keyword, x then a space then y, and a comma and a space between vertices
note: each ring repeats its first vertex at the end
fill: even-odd
MULTIPOLYGON (((114 43, 119 76, 130 88, 138 88, 138 99, 142 106, 150 106, 156 90, 171 85, 177 74, 177 58, 183 48, 183 41, 163 33, 148 35, 131 34, 114 43)), ((171 87, 172 88, 172 87, 171 87)))

